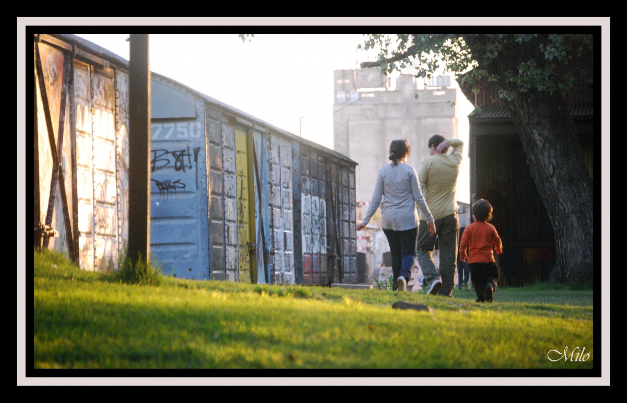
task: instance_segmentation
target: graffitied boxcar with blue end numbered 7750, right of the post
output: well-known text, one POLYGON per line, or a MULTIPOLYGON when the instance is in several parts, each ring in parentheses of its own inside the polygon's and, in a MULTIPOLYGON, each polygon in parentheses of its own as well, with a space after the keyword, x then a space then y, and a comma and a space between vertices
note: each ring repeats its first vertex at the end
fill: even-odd
POLYGON ((357 281, 354 161, 155 73, 151 117, 150 251, 166 274, 357 281))

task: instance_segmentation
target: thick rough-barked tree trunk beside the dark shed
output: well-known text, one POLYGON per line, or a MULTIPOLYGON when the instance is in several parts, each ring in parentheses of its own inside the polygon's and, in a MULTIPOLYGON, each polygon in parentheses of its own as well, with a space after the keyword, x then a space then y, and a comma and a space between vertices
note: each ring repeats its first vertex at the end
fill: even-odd
POLYGON ((593 279, 593 180, 571 112, 560 95, 523 92, 507 102, 556 242, 551 279, 593 279))

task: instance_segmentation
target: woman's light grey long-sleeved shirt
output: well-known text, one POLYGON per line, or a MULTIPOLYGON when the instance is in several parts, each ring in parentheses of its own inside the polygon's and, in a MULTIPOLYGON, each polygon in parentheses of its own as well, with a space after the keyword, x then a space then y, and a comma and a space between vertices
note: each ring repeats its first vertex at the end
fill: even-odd
POLYGON ((379 205, 381 205, 381 228, 386 230, 405 231, 418 227, 416 205, 426 220, 433 222, 433 215, 424 201, 418 183, 416 169, 409 164, 399 163, 396 166, 387 164, 379 169, 368 212, 361 222, 364 227, 372 220, 379 205))

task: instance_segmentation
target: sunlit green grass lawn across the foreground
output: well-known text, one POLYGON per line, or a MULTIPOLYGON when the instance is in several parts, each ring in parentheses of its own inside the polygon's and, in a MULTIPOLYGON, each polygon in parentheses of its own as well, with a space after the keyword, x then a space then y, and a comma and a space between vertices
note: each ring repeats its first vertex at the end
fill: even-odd
POLYGON ((592 289, 499 288, 492 304, 454 293, 149 286, 35 253, 33 368, 593 368, 592 289), (547 359, 564 347, 589 358, 547 359))

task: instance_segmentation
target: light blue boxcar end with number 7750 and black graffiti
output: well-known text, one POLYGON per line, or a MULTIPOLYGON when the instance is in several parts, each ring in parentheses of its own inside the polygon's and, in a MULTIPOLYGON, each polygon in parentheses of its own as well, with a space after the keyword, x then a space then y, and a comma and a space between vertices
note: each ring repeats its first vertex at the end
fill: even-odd
POLYGON ((161 94, 161 108, 156 115, 151 109, 150 124, 151 259, 166 275, 209 279, 204 102, 161 77, 153 77, 151 87, 161 94), (173 107, 170 117, 169 102, 188 105, 189 113, 189 109, 201 113, 180 119, 181 108, 173 107))

